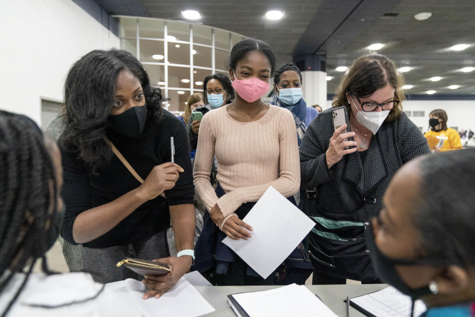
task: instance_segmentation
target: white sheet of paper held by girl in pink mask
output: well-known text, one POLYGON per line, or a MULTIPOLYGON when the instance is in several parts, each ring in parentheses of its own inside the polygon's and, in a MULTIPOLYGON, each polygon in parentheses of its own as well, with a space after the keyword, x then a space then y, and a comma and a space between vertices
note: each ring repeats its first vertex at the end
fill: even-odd
POLYGON ((297 247, 315 222, 270 186, 244 217, 253 231, 248 240, 223 243, 263 278, 267 278, 297 247))

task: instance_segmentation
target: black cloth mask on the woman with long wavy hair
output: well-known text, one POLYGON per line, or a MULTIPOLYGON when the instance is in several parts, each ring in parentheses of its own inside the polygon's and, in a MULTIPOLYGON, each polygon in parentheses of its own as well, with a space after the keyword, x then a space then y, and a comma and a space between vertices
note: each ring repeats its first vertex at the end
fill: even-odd
POLYGON ((146 106, 135 106, 121 114, 109 115, 108 117, 110 129, 131 139, 142 134, 146 119, 146 106))

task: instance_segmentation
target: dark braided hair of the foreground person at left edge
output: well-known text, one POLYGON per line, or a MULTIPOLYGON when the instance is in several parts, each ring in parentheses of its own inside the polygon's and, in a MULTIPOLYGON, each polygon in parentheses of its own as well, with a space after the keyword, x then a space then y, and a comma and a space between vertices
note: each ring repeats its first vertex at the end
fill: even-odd
POLYGON ((59 228, 61 219, 56 214, 59 193, 54 165, 40 128, 24 115, 1 110, 0 179, 0 276, 11 270, 0 282, 0 293, 14 273, 30 265, 5 316, 39 258, 43 270, 50 273, 44 254, 50 247, 48 237, 54 234, 51 230, 59 228))

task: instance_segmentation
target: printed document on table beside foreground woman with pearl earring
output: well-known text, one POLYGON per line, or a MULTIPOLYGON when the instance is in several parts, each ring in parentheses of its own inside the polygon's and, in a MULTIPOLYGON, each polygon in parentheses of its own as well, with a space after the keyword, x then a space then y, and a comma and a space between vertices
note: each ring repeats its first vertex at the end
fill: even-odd
MULTIPOLYGON (((392 286, 378 292, 350 299, 351 306, 363 313, 376 317, 411 317, 411 298, 402 294, 392 286)), ((414 306, 414 316, 421 316, 426 311, 424 302, 417 300, 414 306)))

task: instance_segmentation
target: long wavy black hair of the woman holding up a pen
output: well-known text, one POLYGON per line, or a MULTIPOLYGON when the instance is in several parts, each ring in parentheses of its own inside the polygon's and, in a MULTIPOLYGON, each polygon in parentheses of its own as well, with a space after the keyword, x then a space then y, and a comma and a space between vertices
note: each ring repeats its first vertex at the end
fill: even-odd
POLYGON ((84 55, 69 70, 64 85, 65 130, 60 142, 82 159, 92 174, 112 158, 103 141, 110 125, 107 118, 114 101, 117 76, 128 70, 140 81, 148 110, 147 119, 160 120, 161 91, 151 87, 148 75, 134 55, 112 49, 95 50, 84 55))

